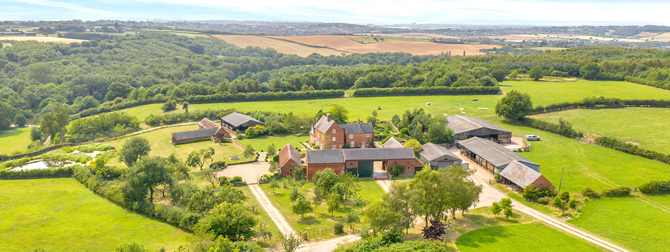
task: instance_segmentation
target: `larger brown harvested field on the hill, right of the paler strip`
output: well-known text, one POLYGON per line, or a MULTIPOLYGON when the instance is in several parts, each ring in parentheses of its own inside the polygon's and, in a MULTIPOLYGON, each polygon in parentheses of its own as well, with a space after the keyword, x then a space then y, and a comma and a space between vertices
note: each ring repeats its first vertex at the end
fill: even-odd
POLYGON ((414 55, 441 54, 451 51, 453 55, 460 55, 466 51, 466 55, 480 55, 480 49, 493 48, 495 45, 482 44, 439 44, 427 41, 389 41, 361 44, 351 40, 351 38, 365 36, 268 36, 269 38, 279 38, 290 40, 300 44, 313 46, 326 46, 345 52, 356 52, 366 54, 369 52, 409 52, 414 55))

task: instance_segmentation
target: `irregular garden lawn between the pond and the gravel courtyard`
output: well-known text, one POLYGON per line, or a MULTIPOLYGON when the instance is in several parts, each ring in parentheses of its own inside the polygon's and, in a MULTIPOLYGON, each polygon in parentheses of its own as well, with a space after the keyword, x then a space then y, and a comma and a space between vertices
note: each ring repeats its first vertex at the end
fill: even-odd
MULTIPOLYGON (((174 152, 178 155, 178 157, 182 159, 182 161, 186 161, 186 157, 188 157, 188 153, 191 153, 191 151, 196 151, 198 149, 203 149, 207 147, 213 147, 215 152, 212 159, 214 160, 214 162, 223 160, 228 164, 234 164, 247 161, 242 156, 243 150, 234 145, 233 143, 218 144, 212 141, 199 141, 196 143, 184 143, 176 146, 170 143, 170 139, 172 139, 172 133, 180 131, 190 131, 195 129, 198 129, 198 125, 194 124, 194 125, 182 125, 175 127, 165 127, 162 129, 156 129, 154 131, 141 133, 137 136, 146 137, 147 139, 149 139, 149 143, 151 143, 151 153, 150 153, 151 155, 160 155, 163 157, 167 157, 168 155, 174 152), (230 160, 225 158, 225 157, 231 157, 233 155, 238 155, 240 157, 240 161, 231 162, 230 160)), ((107 141, 105 143, 120 148, 126 139, 128 139, 128 137, 116 139, 114 141, 107 141)))

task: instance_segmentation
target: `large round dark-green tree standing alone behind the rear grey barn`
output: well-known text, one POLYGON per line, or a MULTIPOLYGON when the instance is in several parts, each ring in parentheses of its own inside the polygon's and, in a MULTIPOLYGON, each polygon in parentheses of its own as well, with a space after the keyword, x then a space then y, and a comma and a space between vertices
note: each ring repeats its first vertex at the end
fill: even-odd
POLYGON ((533 111, 531 96, 525 92, 511 90, 496 104, 496 115, 520 121, 533 111))

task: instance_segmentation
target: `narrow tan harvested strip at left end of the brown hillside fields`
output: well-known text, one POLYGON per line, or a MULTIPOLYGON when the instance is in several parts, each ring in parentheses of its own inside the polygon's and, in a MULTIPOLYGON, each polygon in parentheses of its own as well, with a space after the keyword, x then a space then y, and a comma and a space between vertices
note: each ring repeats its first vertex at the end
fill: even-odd
MULTIPOLYGON (((340 55, 344 52, 334 50, 331 48, 316 48, 297 44, 290 41, 279 40, 276 38, 269 38, 266 36, 246 36, 246 35, 214 35, 214 38, 223 40, 227 43, 234 44, 241 48, 247 46, 259 46, 260 48, 275 48, 277 52, 283 54, 297 54, 298 56, 307 57, 310 54, 317 53, 322 56, 340 55)), ((355 43, 355 42, 354 42, 355 43)))

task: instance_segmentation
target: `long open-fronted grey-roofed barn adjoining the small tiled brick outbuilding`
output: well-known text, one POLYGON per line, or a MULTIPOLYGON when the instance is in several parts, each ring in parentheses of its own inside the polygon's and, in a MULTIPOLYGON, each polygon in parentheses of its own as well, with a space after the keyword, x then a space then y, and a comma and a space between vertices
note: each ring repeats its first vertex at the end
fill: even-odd
POLYGON ((492 174, 500 172, 500 170, 505 169, 505 167, 514 161, 528 166, 535 170, 535 172, 539 172, 540 170, 539 164, 535 164, 535 162, 528 160, 514 151, 487 139, 472 137, 458 143, 461 145, 460 152, 463 155, 469 157, 492 174))

